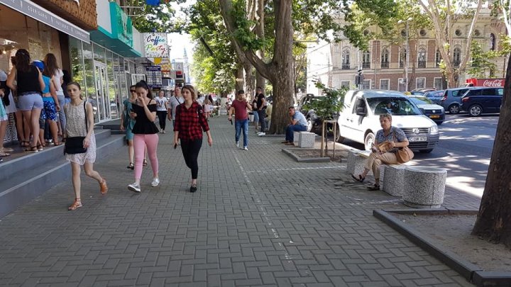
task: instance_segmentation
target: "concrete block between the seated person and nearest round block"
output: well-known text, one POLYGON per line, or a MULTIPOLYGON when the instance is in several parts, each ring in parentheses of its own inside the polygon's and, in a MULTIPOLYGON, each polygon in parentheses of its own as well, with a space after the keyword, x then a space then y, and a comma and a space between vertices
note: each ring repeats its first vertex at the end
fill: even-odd
POLYGON ((380 190, 391 196, 402 196, 405 190, 405 168, 403 164, 380 165, 380 190))

